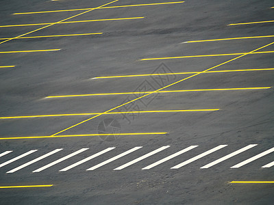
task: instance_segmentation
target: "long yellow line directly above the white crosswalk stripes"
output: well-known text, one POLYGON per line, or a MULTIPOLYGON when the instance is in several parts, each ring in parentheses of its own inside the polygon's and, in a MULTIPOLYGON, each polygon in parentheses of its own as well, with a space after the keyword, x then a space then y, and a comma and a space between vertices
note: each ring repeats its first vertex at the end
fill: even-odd
MULTIPOLYGON (((120 133, 119 135, 165 135, 166 133, 120 133)), ((33 137, 1 137, 0 139, 40 139, 55 137, 92 137, 92 136, 109 136, 118 134, 87 134, 87 135, 51 135, 51 136, 33 136, 33 137)))

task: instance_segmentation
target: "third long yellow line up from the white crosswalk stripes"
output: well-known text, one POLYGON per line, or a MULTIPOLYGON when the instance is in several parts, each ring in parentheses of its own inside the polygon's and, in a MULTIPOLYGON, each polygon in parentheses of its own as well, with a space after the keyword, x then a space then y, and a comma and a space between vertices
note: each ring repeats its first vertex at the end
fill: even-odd
MULTIPOLYGON (((196 89, 196 90, 164 90, 155 93, 171 93, 171 92, 199 92, 199 91, 229 91, 229 90, 263 90, 271 87, 237 87, 237 88, 219 88, 219 89, 196 89)), ((68 97, 86 97, 86 96, 110 96, 110 95, 128 95, 128 94, 149 94, 150 92, 112 92, 98 94, 78 94, 66 96, 47 96, 46 98, 68 98, 68 97)), ((1 118, 0 118, 1 119, 1 118)))

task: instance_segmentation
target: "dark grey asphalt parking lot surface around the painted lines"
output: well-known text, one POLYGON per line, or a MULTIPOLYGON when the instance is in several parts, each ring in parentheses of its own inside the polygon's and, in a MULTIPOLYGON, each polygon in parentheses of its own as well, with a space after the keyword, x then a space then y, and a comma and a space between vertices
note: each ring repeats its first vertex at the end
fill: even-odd
MULTIPOLYGON (((96 8, 110 1, 0 1, 0 25, 51 23, 83 11, 12 15, 15 12, 96 8)), ((169 1, 120 0, 108 6, 169 1)), ((140 61, 143 58, 223 53, 249 53, 274 38, 183 43, 190 40, 273 35, 274 23, 227 26, 273 20, 273 1, 185 1, 178 4, 149 5, 92 10, 70 20, 141 17, 90 23, 52 25, 28 36, 95 33, 94 36, 14 39, 0 44, 1 51, 61 49, 39 53, 0 53, 0 117, 64 113, 104 112, 138 94, 46 98, 71 94, 97 94, 158 90, 192 74, 92 79, 102 76, 152 74, 153 72, 201 72, 240 55, 192 57, 140 61)), ((0 27, 0 38, 12 38, 43 27, 0 27)), ((2 40, 3 42, 3 40, 2 40)), ((261 51, 274 51, 273 44, 261 51)), ((212 70, 274 68, 273 53, 240 57, 212 70)), ((193 90, 235 87, 271 87, 274 71, 219 72, 198 74, 164 90, 193 90)), ((136 113, 101 115, 58 135, 97 133, 107 119, 118 122, 106 133, 166 133, 165 135, 115 135, 108 138, 54 137, 43 139, 0 139, 0 164, 29 150, 38 150, 0 167, 0 186, 53 184, 53 187, 0 189, 0 204, 273 204, 273 184, 232 184, 231 181, 273 181, 273 152, 238 169, 233 165, 273 148, 274 93, 267 90, 229 90, 151 94, 114 111, 177 109, 220 109, 186 113, 136 113), (98 128, 99 127, 99 128, 98 128), (121 127, 121 129, 120 129, 121 127), (200 169, 216 159, 249 144, 251 148, 208 169, 200 169), (179 169, 171 167, 219 145, 225 148, 179 169), (94 171, 86 169, 142 146, 126 156, 94 171), (122 170, 113 170, 162 146, 170 146, 122 170), (188 146, 197 148, 149 170, 143 167, 188 146), (60 169, 105 148, 102 154, 66 172, 60 169), (17 172, 23 163, 52 150, 64 150, 17 172), (44 165, 81 148, 89 148, 42 172, 44 165)), ((0 119, 0 138, 49 136, 90 116, 0 119)))

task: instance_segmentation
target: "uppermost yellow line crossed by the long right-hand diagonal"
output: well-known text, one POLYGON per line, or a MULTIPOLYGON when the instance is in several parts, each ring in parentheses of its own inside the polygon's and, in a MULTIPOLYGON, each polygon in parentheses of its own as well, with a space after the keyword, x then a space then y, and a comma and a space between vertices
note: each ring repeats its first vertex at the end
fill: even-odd
POLYGON ((247 55, 247 54, 263 54, 263 53, 274 53, 274 51, 262 51, 253 53, 225 53, 225 54, 212 54, 212 55, 186 55, 186 56, 175 56, 175 57, 154 57, 154 58, 144 58, 141 61, 150 61, 158 59, 179 59, 179 58, 190 58, 190 57, 216 57, 216 56, 228 56, 228 55, 247 55))

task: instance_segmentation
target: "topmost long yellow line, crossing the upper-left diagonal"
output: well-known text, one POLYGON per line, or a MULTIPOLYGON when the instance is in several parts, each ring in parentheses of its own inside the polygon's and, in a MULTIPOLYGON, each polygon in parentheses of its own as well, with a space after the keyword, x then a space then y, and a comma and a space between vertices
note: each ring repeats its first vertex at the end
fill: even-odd
POLYGON ((53 12, 75 12, 75 11, 83 11, 83 10, 109 9, 109 8, 127 8, 127 7, 146 6, 146 5, 165 5, 165 4, 175 4, 175 3, 184 3, 184 1, 164 2, 164 3, 144 3, 144 4, 134 4, 134 5, 116 5, 116 6, 106 6, 106 7, 103 7, 103 8, 82 8, 82 9, 73 9, 73 10, 53 10, 53 11, 45 11, 45 12, 23 12, 23 13, 14 13, 14 15, 42 14, 42 13, 53 13, 53 12))

